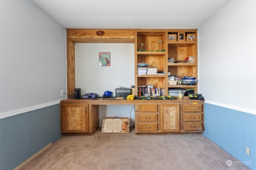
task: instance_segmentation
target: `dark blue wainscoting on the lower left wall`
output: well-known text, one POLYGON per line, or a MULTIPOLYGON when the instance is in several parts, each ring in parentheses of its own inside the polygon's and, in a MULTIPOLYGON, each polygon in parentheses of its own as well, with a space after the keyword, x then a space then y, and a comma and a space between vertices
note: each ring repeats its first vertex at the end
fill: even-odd
POLYGON ((0 119, 0 170, 12 170, 60 134, 60 104, 0 119))

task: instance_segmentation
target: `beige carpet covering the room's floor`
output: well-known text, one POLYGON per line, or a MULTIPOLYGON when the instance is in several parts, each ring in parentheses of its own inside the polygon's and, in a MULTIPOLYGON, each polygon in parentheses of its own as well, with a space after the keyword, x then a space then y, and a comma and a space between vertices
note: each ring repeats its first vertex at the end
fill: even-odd
POLYGON ((203 135, 63 136, 21 170, 246 170, 203 135), (231 166, 227 161, 234 162, 231 166))

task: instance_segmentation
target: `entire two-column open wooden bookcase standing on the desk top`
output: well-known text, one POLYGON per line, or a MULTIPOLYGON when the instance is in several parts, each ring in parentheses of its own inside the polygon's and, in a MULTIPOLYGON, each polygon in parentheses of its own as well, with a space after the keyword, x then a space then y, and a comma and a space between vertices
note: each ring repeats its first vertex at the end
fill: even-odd
POLYGON ((164 89, 162 96, 168 95, 168 88, 194 89, 198 93, 197 83, 168 84, 168 72, 176 77, 184 76, 197 78, 197 29, 140 29, 135 31, 135 89, 136 96, 153 94, 140 92, 140 86, 151 84, 159 91, 164 89), (170 35, 176 39, 171 40, 170 35), (190 39, 189 37, 194 37, 190 39), (180 38, 181 37, 181 38, 180 38), (185 61, 187 57, 194 57, 194 62, 185 61), (173 58, 174 63, 168 59, 173 58), (165 74, 141 74, 138 72, 138 63, 148 63, 150 68, 158 68, 157 72, 165 71, 165 74))

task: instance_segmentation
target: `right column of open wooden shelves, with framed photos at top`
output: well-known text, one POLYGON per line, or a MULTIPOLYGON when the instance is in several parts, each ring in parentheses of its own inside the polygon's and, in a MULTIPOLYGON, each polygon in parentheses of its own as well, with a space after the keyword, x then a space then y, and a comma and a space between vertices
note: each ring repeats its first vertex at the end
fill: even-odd
MULTIPOLYGON (((176 77, 184 78, 184 76, 196 77, 197 74, 197 29, 170 30, 168 35, 177 35, 176 41, 168 40, 168 59, 173 58, 174 62, 184 61, 187 57, 194 57, 194 62, 186 63, 168 63, 168 72, 176 77), (183 40, 180 40, 180 34, 183 34, 183 40), (190 39, 193 36, 194 39, 190 39)), ((195 94, 198 93, 196 84, 186 85, 169 85, 168 88, 194 89, 195 94)))

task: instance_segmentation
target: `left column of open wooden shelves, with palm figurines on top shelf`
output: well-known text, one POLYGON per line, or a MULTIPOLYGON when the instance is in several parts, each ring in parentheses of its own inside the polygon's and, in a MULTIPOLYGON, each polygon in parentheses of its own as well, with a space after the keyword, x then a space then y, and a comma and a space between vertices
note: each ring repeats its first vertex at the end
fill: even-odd
MULTIPOLYGON (((167 89, 167 73, 143 74, 138 72, 138 63, 147 63, 150 68, 157 68, 159 71, 167 71, 166 53, 166 31, 163 30, 138 30, 135 32, 135 89, 138 89, 136 96, 151 94, 152 92, 140 92, 139 86, 152 84, 154 88, 167 89)), ((148 89, 145 89, 148 90, 148 89)), ((167 92, 163 95, 167 95, 167 92)))

